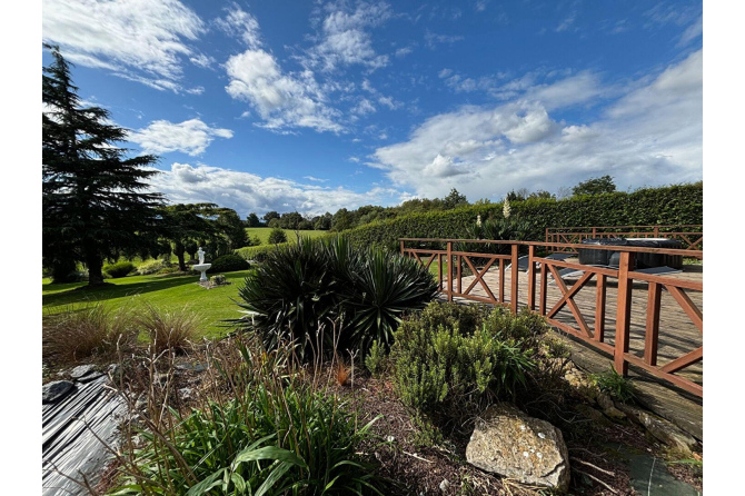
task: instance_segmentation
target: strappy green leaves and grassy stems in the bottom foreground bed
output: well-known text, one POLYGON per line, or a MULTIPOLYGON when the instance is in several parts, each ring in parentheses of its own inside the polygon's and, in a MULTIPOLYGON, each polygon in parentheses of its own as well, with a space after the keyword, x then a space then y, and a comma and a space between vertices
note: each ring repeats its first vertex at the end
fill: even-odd
POLYGON ((346 404, 288 375, 276 356, 238 348, 244 367, 216 361, 235 397, 170 410, 176 427, 165 435, 152 423, 141 429, 145 444, 128 454, 115 494, 381 494, 357 455, 372 423, 358 427, 346 404))

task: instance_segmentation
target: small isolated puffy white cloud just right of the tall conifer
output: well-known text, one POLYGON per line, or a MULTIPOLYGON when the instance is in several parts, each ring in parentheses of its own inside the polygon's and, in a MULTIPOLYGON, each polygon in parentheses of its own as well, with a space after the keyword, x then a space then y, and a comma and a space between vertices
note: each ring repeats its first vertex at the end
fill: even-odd
POLYGON ((203 153, 216 137, 232 138, 232 131, 210 128, 199 119, 191 119, 180 123, 156 120, 147 128, 132 132, 128 139, 147 153, 181 151, 197 156, 203 153))

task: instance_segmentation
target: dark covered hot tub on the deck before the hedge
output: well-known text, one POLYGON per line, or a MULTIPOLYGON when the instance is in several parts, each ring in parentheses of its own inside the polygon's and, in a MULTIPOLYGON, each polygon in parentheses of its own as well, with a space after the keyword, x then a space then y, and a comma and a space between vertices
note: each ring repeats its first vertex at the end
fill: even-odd
MULTIPOLYGON (((683 245, 677 239, 668 238, 595 238, 583 239, 583 245, 596 246, 635 246, 647 248, 682 249, 683 245)), ((579 249, 579 264, 618 266, 620 252, 614 250, 584 250, 579 249)), ((635 264, 632 269, 647 269, 652 267, 683 268, 683 256, 663 254, 636 254, 635 264)))

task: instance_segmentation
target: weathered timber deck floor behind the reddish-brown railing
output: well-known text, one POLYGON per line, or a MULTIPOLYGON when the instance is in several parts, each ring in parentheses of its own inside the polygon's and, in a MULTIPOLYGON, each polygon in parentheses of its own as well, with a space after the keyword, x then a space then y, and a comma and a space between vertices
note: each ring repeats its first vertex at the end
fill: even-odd
MULTIPOLYGON (((576 259, 568 259, 567 261, 577 261, 576 259)), ((465 266, 465 262, 464 262, 465 266)), ((481 269, 480 267, 478 268, 481 269)), ((522 308, 527 306, 528 301, 528 275, 526 272, 518 272, 519 275, 519 290, 518 290, 518 306, 522 308)), ((505 302, 510 301, 510 270, 505 270, 505 302)), ((444 279, 447 275, 444 275, 444 279)), ((567 287, 576 281, 579 276, 565 279, 567 287)), ((702 281, 704 277, 703 265, 685 265, 683 272, 673 274, 666 277, 687 279, 693 281, 702 281)), ((474 276, 463 277, 463 289, 468 288, 474 280, 474 276)), ((498 295, 499 288, 499 270, 491 268, 483 278, 488 285, 494 295, 498 295)), ((556 284, 552 282, 553 278, 548 276, 548 294, 546 300, 546 308, 549 309, 562 297, 562 292, 556 284)), ((444 282, 447 287, 447 280, 444 282)), ((453 281, 454 290, 457 290, 457 281, 453 281)), ((540 271, 536 274, 536 288, 540 287, 540 271)), ((595 279, 589 281, 583 289, 574 297, 575 302, 579 307, 587 325, 590 329, 595 328, 595 279)), ((617 299, 617 280, 608 278, 606 282, 606 318, 605 318, 605 343, 615 344, 615 328, 616 328, 616 299, 617 299)), ((646 307, 647 307, 647 287, 646 282, 635 281, 632 290, 632 316, 629 326, 629 351, 638 357, 644 356, 644 337, 646 328, 646 307)), ((688 297, 703 311, 703 294, 699 291, 686 290, 688 297)), ((487 297, 480 284, 471 289, 470 295, 487 297)), ((446 295, 440 295, 440 299, 445 299, 446 295)), ((455 301, 475 302, 465 298, 455 297, 455 301)), ((691 321, 686 314, 681 309, 675 299, 666 291, 662 292, 659 316, 659 345, 658 345, 658 365, 665 365, 672 359, 675 359, 687 351, 691 351, 703 344, 703 336, 698 328, 691 321)), ((537 304, 536 304, 537 308, 537 304)), ((568 306, 565 306, 555 318, 572 327, 577 327, 577 321, 572 315, 568 306)), ((566 333, 558 330, 558 334, 566 337, 570 348, 573 360, 582 368, 599 373, 607 370, 613 365, 613 358, 589 345, 585 345, 579 339, 568 336, 566 333)), ((703 385, 704 378, 704 363, 703 360, 694 364, 677 375, 686 377, 697 384, 703 385)), ((682 429, 688 431, 698 439, 703 439, 703 401, 702 398, 696 397, 687 391, 672 386, 663 379, 653 377, 644 370, 629 365, 629 377, 636 379, 635 384, 639 391, 639 400, 649 409, 658 415, 677 424, 682 429)))

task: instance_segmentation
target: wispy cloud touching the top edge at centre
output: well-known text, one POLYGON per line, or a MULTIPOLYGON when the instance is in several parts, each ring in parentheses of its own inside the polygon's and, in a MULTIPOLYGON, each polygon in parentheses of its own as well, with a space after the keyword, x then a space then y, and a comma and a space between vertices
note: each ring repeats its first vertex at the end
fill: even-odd
POLYGON ((311 68, 332 71, 340 66, 362 65, 378 69, 388 65, 388 56, 378 54, 367 28, 383 24, 391 17, 385 2, 357 2, 352 10, 346 2, 326 6, 328 13, 320 27, 319 42, 308 50, 311 68))

